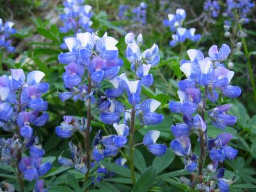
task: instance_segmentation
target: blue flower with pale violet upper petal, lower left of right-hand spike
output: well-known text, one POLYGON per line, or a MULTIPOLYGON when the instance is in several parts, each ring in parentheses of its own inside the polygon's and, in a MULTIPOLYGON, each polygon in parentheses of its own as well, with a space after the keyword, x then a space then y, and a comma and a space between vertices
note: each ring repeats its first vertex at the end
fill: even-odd
POLYGON ((191 154, 191 144, 188 136, 175 138, 170 143, 170 147, 177 156, 188 156, 191 154))

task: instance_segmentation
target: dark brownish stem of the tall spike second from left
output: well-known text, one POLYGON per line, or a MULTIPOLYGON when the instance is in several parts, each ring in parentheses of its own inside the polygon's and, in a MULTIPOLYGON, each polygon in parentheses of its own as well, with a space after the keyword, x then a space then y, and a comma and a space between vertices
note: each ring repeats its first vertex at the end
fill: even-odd
MULTIPOLYGON (((92 92, 92 78, 90 74, 88 75, 88 94, 92 92)), ((85 130, 85 136, 84 136, 84 147, 86 150, 86 166, 87 166, 87 172, 84 175, 84 181, 86 182, 89 177, 90 173, 90 126, 91 126, 91 119, 92 119, 92 109, 91 109, 91 100, 90 98, 87 100, 87 122, 86 122, 86 130, 85 130)))

